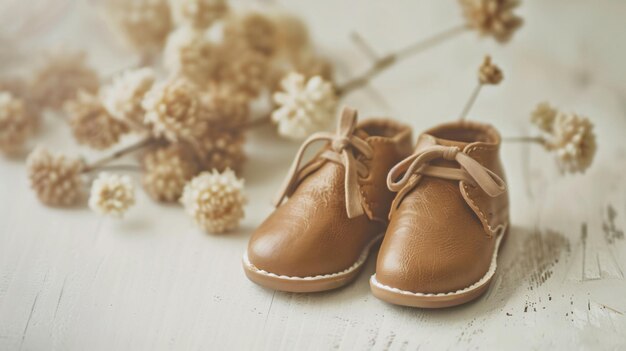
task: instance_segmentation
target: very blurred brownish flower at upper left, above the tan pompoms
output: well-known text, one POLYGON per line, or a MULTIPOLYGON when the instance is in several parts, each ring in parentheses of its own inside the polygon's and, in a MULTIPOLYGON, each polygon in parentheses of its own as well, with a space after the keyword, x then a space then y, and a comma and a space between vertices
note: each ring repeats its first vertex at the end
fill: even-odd
POLYGON ((61 109, 80 90, 95 93, 100 85, 98 74, 85 63, 84 52, 55 53, 34 74, 31 83, 35 104, 42 108, 61 109))

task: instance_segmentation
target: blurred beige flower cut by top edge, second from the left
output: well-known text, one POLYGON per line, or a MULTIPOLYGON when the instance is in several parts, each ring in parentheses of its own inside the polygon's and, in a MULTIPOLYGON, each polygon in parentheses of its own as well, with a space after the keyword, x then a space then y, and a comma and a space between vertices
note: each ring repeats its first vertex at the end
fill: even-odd
POLYGON ((228 12, 225 0, 173 0, 174 19, 178 24, 205 29, 228 12))

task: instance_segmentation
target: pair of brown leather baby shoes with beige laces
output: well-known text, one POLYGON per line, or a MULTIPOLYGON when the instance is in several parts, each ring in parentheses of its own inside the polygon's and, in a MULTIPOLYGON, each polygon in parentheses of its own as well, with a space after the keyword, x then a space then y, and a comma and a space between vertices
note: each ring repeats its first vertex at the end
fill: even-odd
POLYGON ((373 294, 447 307, 483 293, 508 224, 508 195, 491 126, 459 121, 424 132, 389 119, 357 124, 345 108, 335 133, 316 133, 295 158, 277 209, 250 239, 248 278, 315 292, 349 283, 382 241, 373 294), (324 147, 310 161, 315 142, 324 147))

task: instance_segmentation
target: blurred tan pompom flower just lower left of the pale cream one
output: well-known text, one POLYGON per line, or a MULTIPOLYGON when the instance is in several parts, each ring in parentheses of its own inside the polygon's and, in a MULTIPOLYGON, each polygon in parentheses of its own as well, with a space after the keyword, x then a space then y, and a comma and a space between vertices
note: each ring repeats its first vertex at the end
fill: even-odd
POLYGON ((79 144, 96 150, 115 145, 128 132, 128 125, 113 118, 100 100, 89 93, 79 92, 74 100, 65 103, 70 127, 79 144))

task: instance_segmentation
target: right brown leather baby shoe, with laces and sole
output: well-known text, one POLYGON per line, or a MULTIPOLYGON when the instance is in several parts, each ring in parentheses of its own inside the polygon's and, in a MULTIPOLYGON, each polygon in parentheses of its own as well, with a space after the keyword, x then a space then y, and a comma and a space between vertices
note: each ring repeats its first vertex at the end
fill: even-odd
POLYGON ((376 297, 437 308, 486 290, 509 218, 499 149, 493 127, 448 123, 393 167, 387 185, 397 195, 370 279, 376 297))

